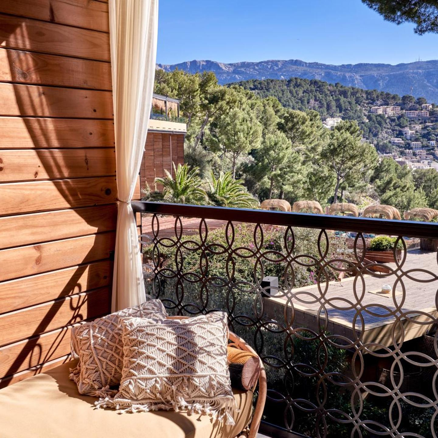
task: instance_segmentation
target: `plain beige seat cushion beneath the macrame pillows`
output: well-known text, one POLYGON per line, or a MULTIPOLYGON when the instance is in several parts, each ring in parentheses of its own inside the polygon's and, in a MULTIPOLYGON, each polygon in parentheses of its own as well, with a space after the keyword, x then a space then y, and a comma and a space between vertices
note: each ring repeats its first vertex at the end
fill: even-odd
POLYGON ((233 389, 239 413, 235 426, 184 411, 119 414, 94 409, 68 378, 76 360, 0 390, 1 438, 233 438, 249 423, 252 392, 233 389))

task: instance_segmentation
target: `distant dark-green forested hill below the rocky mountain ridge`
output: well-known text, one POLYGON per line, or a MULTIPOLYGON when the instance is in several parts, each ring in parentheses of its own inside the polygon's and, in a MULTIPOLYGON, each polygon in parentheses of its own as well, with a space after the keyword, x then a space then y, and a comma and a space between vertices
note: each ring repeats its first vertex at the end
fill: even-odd
MULTIPOLYGON (((341 84, 332 85, 316 79, 253 79, 238 82, 237 85, 254 92, 262 99, 273 96, 286 108, 318 111, 323 120, 326 117, 356 120, 364 138, 374 144, 379 152, 393 152, 395 148, 390 144, 390 139, 403 137, 401 129, 414 122, 404 115, 387 117, 384 114, 371 114, 371 107, 398 105, 401 109, 418 110, 421 109, 421 105, 428 103, 423 97, 400 97, 383 91, 363 90, 341 84)), ((429 126, 410 141, 426 142, 438 138, 438 107, 434 104, 432 107, 431 120, 427 120, 429 126)), ((400 147, 408 148, 410 141, 406 141, 400 147)))

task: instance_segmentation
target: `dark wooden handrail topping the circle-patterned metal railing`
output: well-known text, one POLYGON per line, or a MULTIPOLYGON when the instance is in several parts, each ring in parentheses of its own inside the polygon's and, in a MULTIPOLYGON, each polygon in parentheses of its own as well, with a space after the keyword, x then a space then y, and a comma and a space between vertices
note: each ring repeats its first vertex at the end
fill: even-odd
POLYGON ((209 205, 170 204, 166 202, 132 201, 131 205, 134 212, 137 213, 438 239, 438 223, 275 212, 251 210, 249 208, 212 207, 209 205))

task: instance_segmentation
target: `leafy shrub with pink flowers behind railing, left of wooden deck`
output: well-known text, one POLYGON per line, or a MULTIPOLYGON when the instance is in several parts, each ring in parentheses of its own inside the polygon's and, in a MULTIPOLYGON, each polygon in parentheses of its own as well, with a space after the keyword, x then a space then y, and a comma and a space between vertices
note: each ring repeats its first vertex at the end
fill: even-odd
MULTIPOLYGON (((319 230, 297 228, 294 229, 295 247, 292 256, 298 258, 297 261, 307 266, 300 265, 297 261, 292 261, 294 279, 290 268, 286 269, 285 261, 277 261, 287 254, 287 247, 292 244, 292 235, 287 234, 285 239, 286 227, 262 225, 263 244, 261 251, 266 253, 271 260, 261 259, 257 261, 257 256, 252 251, 256 251, 256 245, 261 244, 261 233, 256 233, 257 243, 254 242, 253 224, 241 223, 236 224, 234 228, 234 242, 232 249, 234 254, 229 255, 228 251, 223 254, 217 254, 227 247, 226 229, 219 228, 208 232, 207 240, 204 244, 206 248, 205 256, 202 257, 202 250, 195 249, 201 244, 199 236, 183 236, 181 246, 178 251, 177 246, 166 247, 162 244, 157 246, 149 245, 144 248, 146 258, 155 260, 155 263, 163 263, 166 268, 177 271, 176 266, 180 265, 180 270, 184 273, 194 272, 205 278, 221 277, 230 279, 233 283, 247 282, 256 283, 261 279, 262 269, 263 276, 276 276, 279 278, 279 287, 301 287, 337 279, 339 271, 343 268, 340 262, 334 262, 334 266, 325 266, 324 268, 318 262, 321 256, 318 253, 318 235, 319 230), (240 248, 240 249, 238 249, 240 248), (305 254, 305 255, 304 255, 305 254), (309 257, 310 256, 310 257, 309 257), (228 272, 227 272, 228 267, 228 272), (233 271, 233 274, 231 273, 233 271)), ((231 237, 231 233, 229 233, 231 237)), ((175 240, 175 238, 173 238, 175 240)), ((163 241, 169 245, 170 241, 163 241)), ((321 251, 324 252, 325 239, 321 239, 321 251)), ((342 239, 329 235, 329 254, 328 259, 341 258, 345 250, 345 242, 342 239)), ((168 274, 166 274, 168 275, 168 274)), ((240 286, 242 287, 242 286, 240 286)), ((248 287, 243 287, 248 289, 248 287)))

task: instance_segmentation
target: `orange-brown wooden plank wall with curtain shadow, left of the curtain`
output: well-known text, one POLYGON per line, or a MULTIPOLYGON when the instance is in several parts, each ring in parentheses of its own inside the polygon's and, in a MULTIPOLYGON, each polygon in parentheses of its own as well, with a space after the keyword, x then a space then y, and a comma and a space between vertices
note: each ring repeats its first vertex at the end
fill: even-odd
MULTIPOLYGON (((117 185, 104 0, 0 2, 0 386, 109 311, 117 185)), ((139 187, 136 198, 139 196, 139 187)))

